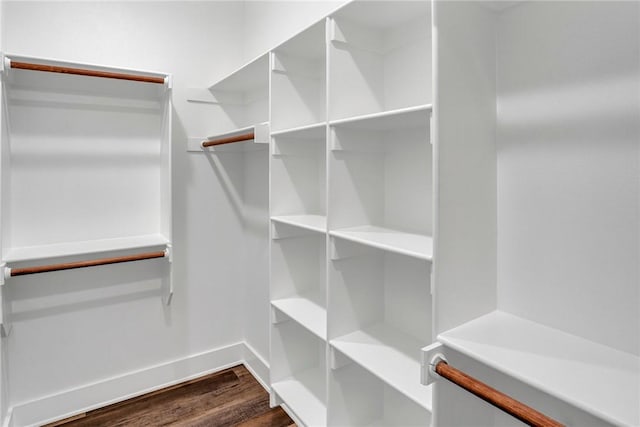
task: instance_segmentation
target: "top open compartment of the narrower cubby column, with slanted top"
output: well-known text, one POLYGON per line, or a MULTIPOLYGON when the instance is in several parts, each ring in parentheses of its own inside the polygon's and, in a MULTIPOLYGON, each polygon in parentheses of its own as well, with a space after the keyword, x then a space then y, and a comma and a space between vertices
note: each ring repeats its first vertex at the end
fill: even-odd
POLYGON ((274 131, 326 120, 325 21, 272 53, 271 121, 274 131))

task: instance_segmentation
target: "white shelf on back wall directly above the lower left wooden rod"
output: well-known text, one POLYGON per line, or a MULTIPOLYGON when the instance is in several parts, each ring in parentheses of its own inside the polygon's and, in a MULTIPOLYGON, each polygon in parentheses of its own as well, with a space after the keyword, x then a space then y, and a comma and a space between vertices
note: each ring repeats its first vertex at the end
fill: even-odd
POLYGON ((58 243, 53 245, 11 248, 4 256, 4 262, 23 262, 63 256, 90 255, 102 252, 163 246, 169 240, 161 234, 122 237, 116 239, 87 240, 82 242, 58 243))

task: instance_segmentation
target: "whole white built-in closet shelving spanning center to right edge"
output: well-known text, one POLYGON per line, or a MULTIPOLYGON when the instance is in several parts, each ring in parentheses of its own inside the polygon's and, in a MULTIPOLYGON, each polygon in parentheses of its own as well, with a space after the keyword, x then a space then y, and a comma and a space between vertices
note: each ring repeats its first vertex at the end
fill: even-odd
POLYGON ((637 5, 499 3, 352 1, 194 97, 270 125, 272 403, 303 425, 514 423, 421 385, 435 352, 640 423, 637 5))

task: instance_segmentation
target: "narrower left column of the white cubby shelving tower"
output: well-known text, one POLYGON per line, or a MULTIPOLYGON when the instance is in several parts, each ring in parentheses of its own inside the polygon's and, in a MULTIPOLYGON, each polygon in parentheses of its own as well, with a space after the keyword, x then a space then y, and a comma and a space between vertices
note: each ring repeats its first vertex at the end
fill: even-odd
POLYGON ((326 421, 326 43, 322 20, 271 53, 272 403, 326 421))

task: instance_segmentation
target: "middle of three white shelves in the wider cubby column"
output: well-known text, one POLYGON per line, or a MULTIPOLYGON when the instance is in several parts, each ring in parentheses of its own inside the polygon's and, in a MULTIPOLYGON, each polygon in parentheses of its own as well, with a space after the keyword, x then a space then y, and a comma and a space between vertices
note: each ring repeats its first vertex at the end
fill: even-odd
POLYGON ((329 234, 333 237, 419 259, 430 261, 433 258, 433 238, 422 234, 405 233, 372 225, 343 228, 331 231, 329 234))

